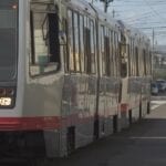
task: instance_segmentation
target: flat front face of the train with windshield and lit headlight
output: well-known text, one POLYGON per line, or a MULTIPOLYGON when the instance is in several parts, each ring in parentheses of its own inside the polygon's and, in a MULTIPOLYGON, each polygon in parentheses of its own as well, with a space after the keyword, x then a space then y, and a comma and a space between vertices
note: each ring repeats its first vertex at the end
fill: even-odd
POLYGON ((18 129, 22 115, 25 44, 19 6, 19 0, 0 1, 0 131, 18 129))

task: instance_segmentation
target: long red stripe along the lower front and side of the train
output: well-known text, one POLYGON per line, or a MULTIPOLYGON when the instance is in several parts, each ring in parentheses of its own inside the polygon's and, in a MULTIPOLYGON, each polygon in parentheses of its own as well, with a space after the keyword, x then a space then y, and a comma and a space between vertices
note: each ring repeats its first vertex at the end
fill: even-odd
MULTIPOLYGON (((107 113, 105 116, 107 117, 107 113)), ((105 117, 103 116, 103 117, 105 117)), ((100 115, 102 117, 102 115, 100 115)), ((90 113, 61 116, 42 117, 0 117, 0 131, 42 131, 60 129, 75 124, 94 122, 94 115, 90 113)))

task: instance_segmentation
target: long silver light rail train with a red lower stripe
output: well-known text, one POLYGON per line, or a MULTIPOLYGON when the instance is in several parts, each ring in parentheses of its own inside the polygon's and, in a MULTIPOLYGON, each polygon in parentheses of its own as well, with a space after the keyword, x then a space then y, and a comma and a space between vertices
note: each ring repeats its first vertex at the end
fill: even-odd
MULTIPOLYGON (((0 137, 65 156, 149 112, 151 43, 83 0, 0 0, 0 137)), ((1 142, 2 143, 2 142, 1 142)))

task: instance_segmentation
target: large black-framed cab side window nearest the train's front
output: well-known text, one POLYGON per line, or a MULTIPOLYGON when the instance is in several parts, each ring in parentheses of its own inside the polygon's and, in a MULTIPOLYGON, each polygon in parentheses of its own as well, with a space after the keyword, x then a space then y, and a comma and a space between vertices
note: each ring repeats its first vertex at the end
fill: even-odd
POLYGON ((58 9, 53 4, 31 3, 30 30, 30 74, 35 76, 59 71, 61 60, 58 9))

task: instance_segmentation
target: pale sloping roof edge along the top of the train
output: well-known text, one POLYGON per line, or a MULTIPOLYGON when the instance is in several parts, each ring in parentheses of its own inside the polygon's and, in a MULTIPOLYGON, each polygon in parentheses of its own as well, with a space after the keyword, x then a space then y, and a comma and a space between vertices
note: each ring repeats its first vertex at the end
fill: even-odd
MULTIPOLYGON (((34 2, 52 2, 53 0, 31 0, 34 2)), ((56 0, 54 0, 56 1, 56 0)), ((128 32, 131 37, 135 38, 136 35, 139 38, 144 38, 148 40, 147 35, 145 35, 143 32, 141 32, 136 28, 132 28, 131 25, 126 24, 122 20, 115 20, 111 14, 103 12, 101 9, 98 9, 95 6, 92 6, 85 0, 61 0, 62 3, 65 3, 68 7, 74 9, 79 12, 85 12, 90 14, 93 18, 97 18, 100 22, 103 22, 107 24, 108 27, 112 27, 114 29, 120 29, 123 32, 128 32)))

